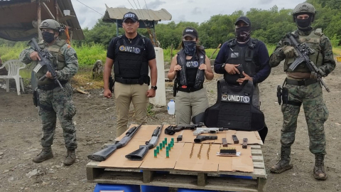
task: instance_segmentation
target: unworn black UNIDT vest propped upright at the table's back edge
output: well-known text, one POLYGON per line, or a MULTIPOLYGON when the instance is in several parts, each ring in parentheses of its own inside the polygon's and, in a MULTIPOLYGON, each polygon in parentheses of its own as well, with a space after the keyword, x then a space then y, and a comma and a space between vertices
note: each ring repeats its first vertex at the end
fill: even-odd
POLYGON ((241 131, 263 129, 264 114, 252 105, 254 85, 244 81, 240 86, 217 81, 217 102, 205 110, 206 127, 226 127, 241 131))

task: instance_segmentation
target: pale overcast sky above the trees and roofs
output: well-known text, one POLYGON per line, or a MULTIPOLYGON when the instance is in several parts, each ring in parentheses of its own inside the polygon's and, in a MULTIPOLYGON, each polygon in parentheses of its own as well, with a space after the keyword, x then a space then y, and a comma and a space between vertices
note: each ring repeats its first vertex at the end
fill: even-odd
MULTIPOLYGON (((303 0, 71 0, 80 26, 92 28, 105 13, 105 4, 109 7, 125 7, 127 9, 166 9, 175 23, 194 21, 202 23, 217 14, 232 14, 242 10, 244 14, 251 8, 269 10, 273 6, 278 9, 293 9, 303 0), (90 8, 88 8, 89 6, 90 8), (94 10, 92 10, 94 9, 94 10), (97 12, 99 13, 97 13, 97 12), (102 15, 101 15, 102 14, 102 15)), ((169 21, 161 21, 168 23, 169 21)))

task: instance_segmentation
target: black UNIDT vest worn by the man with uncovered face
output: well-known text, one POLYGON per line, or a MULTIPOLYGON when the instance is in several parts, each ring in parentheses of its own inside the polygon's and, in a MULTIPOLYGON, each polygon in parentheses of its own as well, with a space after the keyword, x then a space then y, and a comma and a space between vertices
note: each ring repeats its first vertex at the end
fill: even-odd
POLYGON ((114 60, 115 78, 145 81, 144 79, 148 77, 148 60, 144 36, 137 39, 135 45, 131 46, 127 45, 122 36, 118 38, 114 60))

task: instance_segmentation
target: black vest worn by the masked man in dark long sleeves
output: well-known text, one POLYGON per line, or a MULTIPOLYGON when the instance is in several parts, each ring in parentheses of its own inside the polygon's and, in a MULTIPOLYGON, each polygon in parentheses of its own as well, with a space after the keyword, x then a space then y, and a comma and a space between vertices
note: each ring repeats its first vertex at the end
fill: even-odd
MULTIPOLYGON (((256 64, 254 59, 254 53, 257 52, 256 44, 258 39, 250 38, 247 46, 239 46, 237 39, 232 39, 227 42, 227 46, 230 48, 229 55, 226 55, 227 60, 225 63, 229 64, 241 64, 242 68, 247 75, 253 77, 259 71, 259 65, 256 64)), ((239 74, 229 75, 224 74, 224 80, 227 82, 237 82, 237 79, 241 78, 239 74)))

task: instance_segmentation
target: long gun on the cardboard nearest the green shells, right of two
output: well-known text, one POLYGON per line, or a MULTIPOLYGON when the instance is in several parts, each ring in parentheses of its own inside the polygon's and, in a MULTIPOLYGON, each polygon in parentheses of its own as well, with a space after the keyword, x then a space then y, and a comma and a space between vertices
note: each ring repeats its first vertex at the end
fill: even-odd
POLYGON ((146 156, 149 149, 153 149, 158 144, 158 138, 160 137, 162 128, 163 124, 161 124, 161 127, 156 127, 156 129, 153 131, 153 134, 151 134, 151 140, 146 142, 146 145, 140 145, 140 148, 136 151, 127 154, 126 159, 132 161, 141 161, 144 159, 144 156, 146 156))

